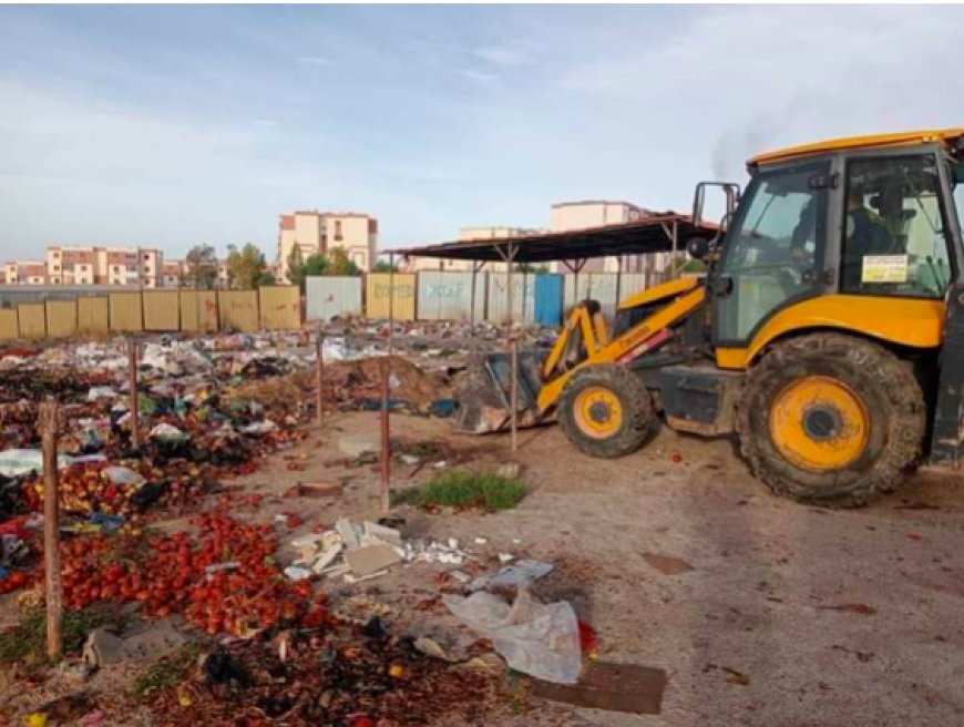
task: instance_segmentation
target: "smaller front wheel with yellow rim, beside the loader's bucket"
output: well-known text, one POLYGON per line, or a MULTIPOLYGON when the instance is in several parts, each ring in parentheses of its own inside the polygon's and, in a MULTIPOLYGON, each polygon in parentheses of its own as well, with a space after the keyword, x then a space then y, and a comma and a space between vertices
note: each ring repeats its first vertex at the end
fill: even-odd
POLYGON ((653 398, 643 381, 616 364, 582 369, 560 397, 563 433, 591 457, 613 459, 635 452, 655 420, 653 398))

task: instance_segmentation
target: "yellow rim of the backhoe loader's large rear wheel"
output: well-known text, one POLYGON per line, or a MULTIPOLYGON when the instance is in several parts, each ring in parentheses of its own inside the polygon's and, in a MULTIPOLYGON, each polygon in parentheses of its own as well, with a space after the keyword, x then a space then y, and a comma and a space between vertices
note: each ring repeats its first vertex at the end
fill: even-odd
POLYGON ((870 419, 845 383, 808 376, 789 383, 770 409, 770 437, 791 463, 811 472, 840 470, 866 449, 870 419))

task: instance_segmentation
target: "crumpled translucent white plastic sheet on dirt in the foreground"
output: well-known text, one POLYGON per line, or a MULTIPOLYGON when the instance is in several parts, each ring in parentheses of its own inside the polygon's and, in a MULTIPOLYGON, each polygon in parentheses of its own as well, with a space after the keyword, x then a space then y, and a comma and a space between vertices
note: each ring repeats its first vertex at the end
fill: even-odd
POLYGON ((491 593, 443 597, 449 611, 489 638, 511 668, 546 682, 578 682, 580 627, 567 602, 545 605, 533 601, 525 583, 512 606, 491 593))

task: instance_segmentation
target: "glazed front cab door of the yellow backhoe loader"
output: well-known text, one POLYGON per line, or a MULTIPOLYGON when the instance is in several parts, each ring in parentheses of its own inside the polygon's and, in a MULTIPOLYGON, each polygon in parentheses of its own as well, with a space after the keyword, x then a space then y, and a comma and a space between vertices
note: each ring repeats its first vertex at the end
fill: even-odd
POLYGON ((743 348, 786 306, 823 291, 830 162, 756 174, 727 232, 712 281, 714 338, 743 348))

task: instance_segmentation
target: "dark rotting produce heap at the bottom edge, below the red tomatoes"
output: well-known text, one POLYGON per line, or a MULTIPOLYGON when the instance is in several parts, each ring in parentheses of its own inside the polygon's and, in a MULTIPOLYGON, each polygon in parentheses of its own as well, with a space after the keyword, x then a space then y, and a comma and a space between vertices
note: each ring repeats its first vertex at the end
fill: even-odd
POLYGON ((420 652, 379 617, 235 642, 150 696, 165 725, 291 726, 478 723, 494 706, 494 674, 420 652))

